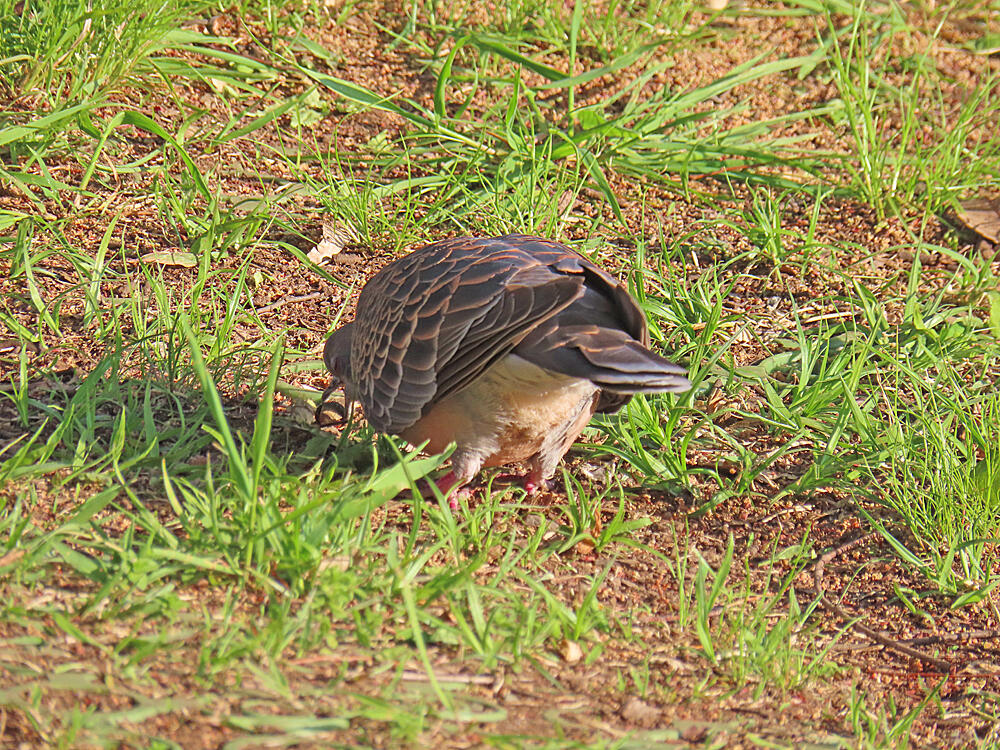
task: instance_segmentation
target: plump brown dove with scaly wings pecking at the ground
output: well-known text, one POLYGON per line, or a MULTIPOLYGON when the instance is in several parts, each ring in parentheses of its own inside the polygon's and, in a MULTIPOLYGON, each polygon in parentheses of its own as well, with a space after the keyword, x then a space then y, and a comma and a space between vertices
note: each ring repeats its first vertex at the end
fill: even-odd
POLYGON ((595 413, 636 393, 683 392, 686 370, 649 348, 642 309, 618 279, 554 240, 458 237, 376 273, 355 318, 323 349, 332 375, 376 431, 430 453, 452 443, 456 488, 483 468, 526 464, 534 493, 595 413))

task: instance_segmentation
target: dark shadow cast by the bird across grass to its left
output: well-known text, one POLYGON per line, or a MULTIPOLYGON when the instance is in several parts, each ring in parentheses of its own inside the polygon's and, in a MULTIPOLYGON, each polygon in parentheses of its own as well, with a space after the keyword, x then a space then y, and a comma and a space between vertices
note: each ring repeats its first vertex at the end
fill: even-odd
MULTIPOLYGON (((8 384, 0 399, 0 483, 48 475, 59 485, 124 481, 155 492, 164 474, 198 481, 207 464, 225 466, 234 446, 251 464, 249 447, 261 429, 266 451, 258 457, 290 474, 330 462, 361 472, 378 460, 367 428, 350 436, 324 431, 281 398, 270 424, 257 424, 262 383, 244 383, 239 393, 217 388, 215 411, 214 394, 190 373, 128 377, 120 364, 109 356, 88 373, 35 372, 8 384)), ((388 460, 391 450, 379 453, 388 460)))

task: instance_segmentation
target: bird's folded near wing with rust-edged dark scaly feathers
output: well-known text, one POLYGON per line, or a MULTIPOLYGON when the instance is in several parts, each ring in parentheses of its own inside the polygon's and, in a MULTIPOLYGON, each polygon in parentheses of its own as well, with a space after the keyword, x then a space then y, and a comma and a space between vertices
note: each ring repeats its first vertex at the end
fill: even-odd
POLYGON ((379 431, 412 425, 583 294, 581 268, 557 272, 503 238, 445 240, 404 260, 358 300, 355 376, 379 431))

